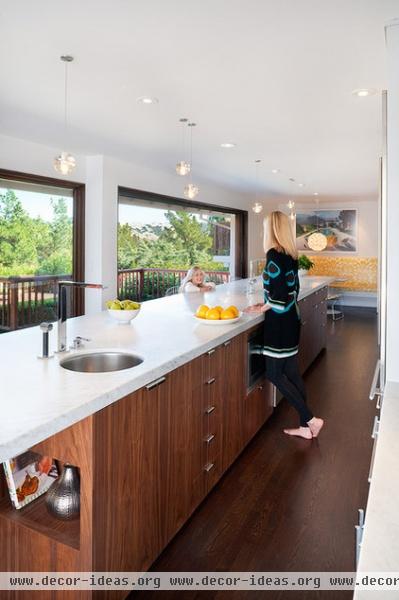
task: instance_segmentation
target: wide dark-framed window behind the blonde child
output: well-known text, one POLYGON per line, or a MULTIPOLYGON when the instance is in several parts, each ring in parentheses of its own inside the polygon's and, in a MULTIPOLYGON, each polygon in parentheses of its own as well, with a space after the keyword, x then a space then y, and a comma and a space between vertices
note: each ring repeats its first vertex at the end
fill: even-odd
POLYGON ((119 190, 118 297, 149 300, 198 265, 224 283, 245 274, 246 212, 119 190))

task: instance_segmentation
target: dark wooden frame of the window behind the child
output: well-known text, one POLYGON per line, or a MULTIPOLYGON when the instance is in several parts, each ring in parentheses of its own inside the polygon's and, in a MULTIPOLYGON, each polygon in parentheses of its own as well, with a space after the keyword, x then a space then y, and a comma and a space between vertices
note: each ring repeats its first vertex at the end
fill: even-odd
MULTIPOLYGON (((158 202, 160 204, 173 204, 175 206, 181 206, 182 208, 192 208, 193 211, 196 209, 209 210, 215 212, 222 212, 232 214, 236 217, 236 235, 235 235, 235 248, 234 248, 234 259, 235 259, 235 276, 236 277, 247 277, 248 269, 248 211, 240 208, 231 208, 230 206, 220 206, 218 204, 207 204, 205 202, 192 203, 189 200, 183 198, 176 198, 175 196, 166 196, 164 194, 156 194, 153 192, 146 192, 144 190, 136 190, 127 187, 118 187, 118 206, 120 196, 131 198, 132 200, 148 200, 149 202, 158 202)), ((118 219, 119 221, 119 219, 118 219)))

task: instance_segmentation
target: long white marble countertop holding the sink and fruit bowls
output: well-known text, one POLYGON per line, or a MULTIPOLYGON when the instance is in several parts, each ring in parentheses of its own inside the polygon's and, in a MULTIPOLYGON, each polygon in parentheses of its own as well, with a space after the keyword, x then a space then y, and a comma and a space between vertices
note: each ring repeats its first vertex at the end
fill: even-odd
MULTIPOLYGON (((302 278, 299 298, 328 285, 332 279, 302 278)), ((261 282, 250 301, 246 287, 247 280, 238 280, 206 294, 177 294, 145 302, 129 325, 119 325, 107 311, 68 320, 68 344, 77 335, 92 340, 79 353, 124 350, 144 359, 142 364, 124 371, 68 371, 59 365, 65 354, 61 358, 56 355, 50 360, 39 360, 42 343, 39 327, 0 335, 0 462, 261 323, 264 315, 245 314, 237 323, 221 327, 202 325, 193 319, 193 313, 202 303, 235 304, 242 310, 248 304, 263 301, 261 282)), ((56 329, 55 325, 50 334, 51 351, 56 344, 56 329)))

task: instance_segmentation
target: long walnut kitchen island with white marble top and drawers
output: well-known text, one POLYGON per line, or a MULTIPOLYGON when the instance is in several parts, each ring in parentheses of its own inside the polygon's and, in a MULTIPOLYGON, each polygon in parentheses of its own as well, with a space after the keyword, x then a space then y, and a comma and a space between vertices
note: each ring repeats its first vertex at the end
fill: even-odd
MULTIPOLYGON (((329 282, 301 282, 302 371, 326 345, 329 282)), ((80 518, 60 522, 43 497, 13 510, 1 474, 0 570, 148 569, 273 411, 273 386, 263 374, 248 378, 249 341, 263 315, 220 327, 193 319, 200 303, 242 310, 262 301, 260 285, 250 297, 246 289, 241 280, 150 301, 130 325, 106 311, 68 321, 69 342, 91 339, 80 353, 143 359, 125 371, 76 373, 58 356, 38 360, 37 327, 0 336, 0 460, 33 448, 76 465, 81 478, 80 518)))

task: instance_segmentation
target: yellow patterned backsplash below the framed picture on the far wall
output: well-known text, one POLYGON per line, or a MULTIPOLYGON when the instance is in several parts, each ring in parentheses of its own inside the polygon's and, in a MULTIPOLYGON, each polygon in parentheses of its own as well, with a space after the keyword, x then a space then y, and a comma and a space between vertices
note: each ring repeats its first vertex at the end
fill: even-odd
POLYGON ((309 275, 328 275, 346 279, 337 282, 335 286, 348 291, 375 292, 377 290, 378 259, 376 257, 309 255, 309 258, 314 262, 309 275))

